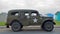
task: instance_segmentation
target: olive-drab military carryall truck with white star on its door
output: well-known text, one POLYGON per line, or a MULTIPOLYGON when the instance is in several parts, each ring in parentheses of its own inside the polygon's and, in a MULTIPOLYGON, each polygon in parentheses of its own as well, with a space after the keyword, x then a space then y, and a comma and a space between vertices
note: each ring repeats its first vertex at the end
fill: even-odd
POLYGON ((37 10, 9 10, 6 27, 14 32, 21 31, 23 26, 40 25, 44 31, 51 32, 55 22, 52 17, 41 16, 37 10))

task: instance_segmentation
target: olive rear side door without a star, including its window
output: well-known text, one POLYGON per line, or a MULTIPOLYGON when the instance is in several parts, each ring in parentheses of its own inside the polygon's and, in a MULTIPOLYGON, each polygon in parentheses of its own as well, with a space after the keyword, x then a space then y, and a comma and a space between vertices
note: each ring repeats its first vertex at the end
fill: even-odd
POLYGON ((29 25, 29 19, 30 19, 29 15, 30 15, 29 12, 23 12, 21 14, 20 21, 22 21, 23 25, 29 25))

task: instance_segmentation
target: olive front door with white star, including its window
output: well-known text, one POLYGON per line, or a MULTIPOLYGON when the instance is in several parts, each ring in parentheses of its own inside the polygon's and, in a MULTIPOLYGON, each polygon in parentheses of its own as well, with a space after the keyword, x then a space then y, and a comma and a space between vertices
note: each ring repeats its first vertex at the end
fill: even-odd
POLYGON ((39 15, 37 12, 31 12, 30 14, 30 25, 39 25, 39 15))

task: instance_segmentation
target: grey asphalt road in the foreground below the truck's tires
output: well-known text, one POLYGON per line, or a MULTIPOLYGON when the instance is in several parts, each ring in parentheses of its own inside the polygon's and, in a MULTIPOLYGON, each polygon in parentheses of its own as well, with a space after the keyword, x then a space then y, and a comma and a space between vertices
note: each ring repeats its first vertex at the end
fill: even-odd
MULTIPOLYGON (((31 27, 28 27, 31 28, 31 27)), ((0 28, 1 29, 1 28, 0 28)), ((0 34, 60 34, 60 28, 54 28, 52 32, 46 32, 41 29, 29 29, 29 30, 23 30, 20 32, 13 32, 10 28, 3 28, 0 30, 0 34)))

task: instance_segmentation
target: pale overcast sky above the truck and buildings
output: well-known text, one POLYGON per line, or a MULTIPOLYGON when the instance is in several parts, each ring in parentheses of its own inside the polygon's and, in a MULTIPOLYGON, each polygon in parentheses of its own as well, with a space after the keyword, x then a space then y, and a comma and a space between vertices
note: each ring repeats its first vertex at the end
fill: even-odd
POLYGON ((0 0, 0 13, 11 9, 35 9, 41 14, 60 11, 60 0, 0 0))

